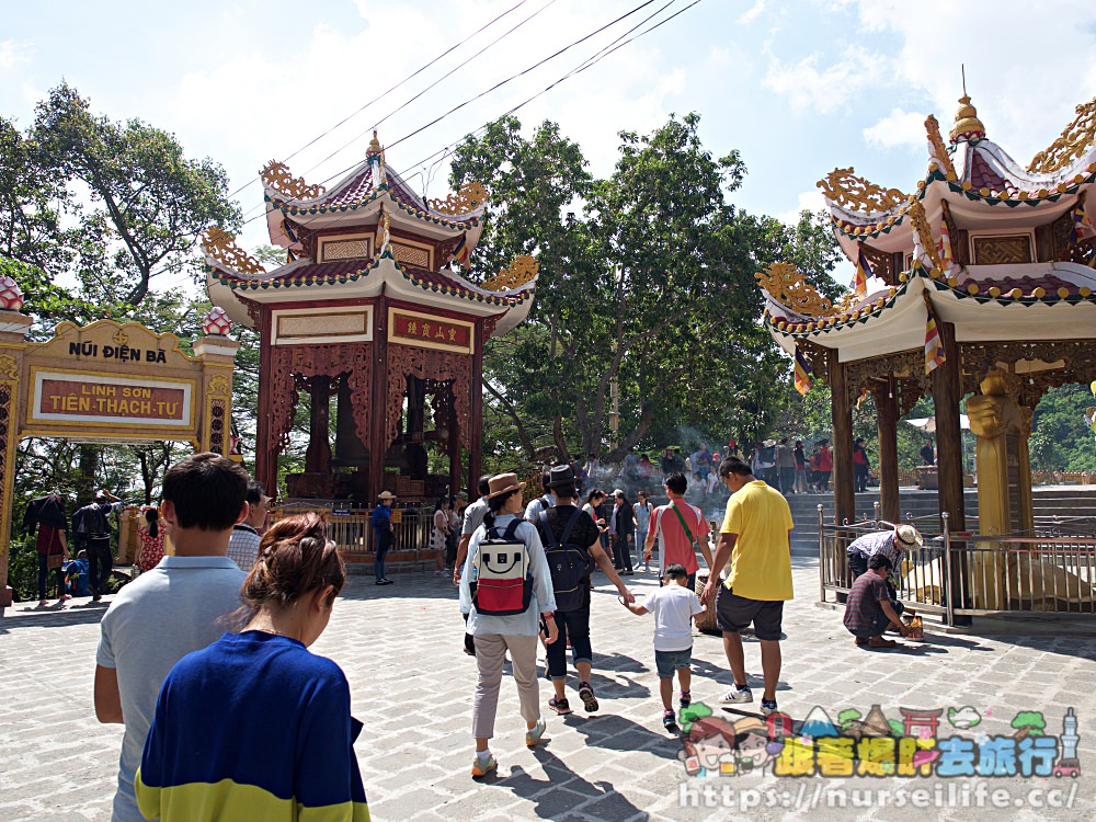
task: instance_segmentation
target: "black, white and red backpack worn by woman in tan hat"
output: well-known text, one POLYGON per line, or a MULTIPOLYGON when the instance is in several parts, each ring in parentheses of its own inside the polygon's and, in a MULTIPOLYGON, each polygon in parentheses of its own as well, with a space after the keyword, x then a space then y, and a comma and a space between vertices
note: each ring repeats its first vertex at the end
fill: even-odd
POLYGON ((533 600, 529 552, 516 536, 523 522, 514 520, 501 537, 494 527, 488 528, 480 540, 470 583, 476 613, 513 616, 529 609, 533 600))

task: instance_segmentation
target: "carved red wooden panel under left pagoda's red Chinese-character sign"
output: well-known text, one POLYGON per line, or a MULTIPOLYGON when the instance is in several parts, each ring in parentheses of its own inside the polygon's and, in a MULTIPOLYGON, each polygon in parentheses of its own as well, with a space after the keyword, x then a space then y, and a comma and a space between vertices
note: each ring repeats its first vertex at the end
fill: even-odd
MULTIPOLYGON (((471 355, 389 343, 387 406, 385 409, 387 418, 385 436, 388 444, 395 442, 400 433, 400 414, 403 409, 403 392, 407 389, 408 374, 436 384, 452 381, 460 443, 466 448, 470 448, 471 355)), ((434 388, 436 389, 436 386, 434 388)))

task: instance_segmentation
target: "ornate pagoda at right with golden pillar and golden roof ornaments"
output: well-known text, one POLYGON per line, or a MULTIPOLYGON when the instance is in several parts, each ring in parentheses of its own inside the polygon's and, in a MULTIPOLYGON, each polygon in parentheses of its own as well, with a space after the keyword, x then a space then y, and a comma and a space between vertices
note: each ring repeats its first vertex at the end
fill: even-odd
POLYGON ((960 99, 947 141, 925 121, 928 169, 912 194, 836 169, 819 183, 857 265, 840 302, 794 266, 758 274, 765 322, 833 390, 836 521, 855 520, 852 407, 879 413, 881 513, 899 518, 895 430, 926 393, 936 408, 939 505, 964 530, 960 403, 978 435, 983 534, 1030 529, 1027 439, 1047 389, 1096 378, 1096 99, 1021 168, 960 99))

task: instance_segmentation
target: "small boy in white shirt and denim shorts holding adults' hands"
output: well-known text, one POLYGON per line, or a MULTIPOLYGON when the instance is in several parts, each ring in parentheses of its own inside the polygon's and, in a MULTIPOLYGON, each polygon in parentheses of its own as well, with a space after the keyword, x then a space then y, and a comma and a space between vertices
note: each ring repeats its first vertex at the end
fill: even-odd
POLYGON ((667 731, 676 726, 671 707, 674 671, 681 685, 681 707, 687 708, 692 701, 693 617, 704 613, 696 594, 685 587, 687 580, 685 566, 674 562, 666 566, 665 584, 649 594, 642 605, 621 600, 624 606, 637 616, 654 614, 654 664, 659 670, 659 692, 662 695, 662 724, 667 731))

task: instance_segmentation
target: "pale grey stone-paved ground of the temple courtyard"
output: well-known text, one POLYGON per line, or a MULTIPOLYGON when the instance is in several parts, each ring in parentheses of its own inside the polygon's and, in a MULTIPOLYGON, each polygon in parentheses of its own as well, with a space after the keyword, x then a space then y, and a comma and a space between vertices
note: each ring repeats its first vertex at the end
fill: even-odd
MULTIPOLYGON (((653 585, 653 576, 641 572, 631 580, 640 595, 653 585)), ((956 796, 961 800, 966 794, 971 804, 978 784, 990 791, 1003 788, 1006 794, 1000 799, 1009 807, 995 811, 997 819, 1096 817, 1096 639, 958 637, 933 635, 929 628, 931 641, 922 648, 861 651, 842 628, 840 613, 814 607, 817 580, 815 567, 797 560, 799 598, 785 616, 778 693, 784 710, 801 719, 821 705, 835 718, 844 708, 866 712, 877 703, 889 717, 899 718, 899 707, 973 705, 992 710, 982 726, 989 733, 1011 732, 1008 721, 1019 710, 1041 710, 1048 730, 1059 733, 1061 717, 1072 706, 1080 720, 1084 773, 1078 779, 950 781, 956 796), (1031 788, 1061 788, 1062 798, 1075 788, 1073 806, 1016 807, 1031 788)), ((16 605, 0 620, 0 820, 106 820, 122 734, 119 728, 98 724, 92 710, 103 610, 77 605, 60 613, 24 613, 28 607, 16 605)), ((888 797, 886 810, 879 809, 883 800, 878 796, 872 808, 827 807, 840 801, 841 791, 849 803, 869 798, 852 795, 854 788, 925 787, 925 798, 933 803, 940 786, 946 802, 947 780, 935 777, 686 777, 677 758, 681 744, 660 724, 650 618, 632 616, 602 586, 594 596, 592 621, 601 712, 548 716, 551 740, 530 752, 523 744, 516 692, 507 678, 492 744, 500 776, 477 785, 468 775, 475 666, 460 651, 454 590, 426 574, 404 574, 389 587, 376 587, 369 576, 352 576, 313 650, 338 661, 350 678, 354 712, 365 722, 357 753, 374 818, 502 822, 811 817, 903 822, 974 817, 971 808, 914 808, 913 795, 901 808, 892 807, 893 795, 888 797), (724 795, 724 788, 735 792, 724 795), (765 790, 769 792, 757 792, 765 790), (758 801, 760 808, 743 807, 758 801)), ((698 636, 694 660, 697 700, 710 701, 717 713, 732 719, 750 712, 722 713, 715 704, 731 682, 717 638, 698 636)), ((751 672, 758 671, 752 640, 746 641, 746 662, 751 672)), ((760 698, 760 680, 751 681, 760 698)), ((543 699, 549 689, 543 682, 543 699)), ((756 711, 756 704, 743 707, 756 711)))

